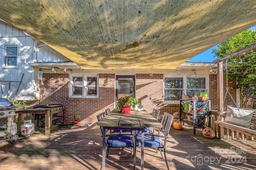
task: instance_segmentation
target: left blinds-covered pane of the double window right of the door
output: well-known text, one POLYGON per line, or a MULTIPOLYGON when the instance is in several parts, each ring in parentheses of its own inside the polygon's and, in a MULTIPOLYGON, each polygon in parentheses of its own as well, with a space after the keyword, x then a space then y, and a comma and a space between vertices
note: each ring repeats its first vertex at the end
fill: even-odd
POLYGON ((164 102, 177 101, 183 95, 183 77, 164 78, 164 102))

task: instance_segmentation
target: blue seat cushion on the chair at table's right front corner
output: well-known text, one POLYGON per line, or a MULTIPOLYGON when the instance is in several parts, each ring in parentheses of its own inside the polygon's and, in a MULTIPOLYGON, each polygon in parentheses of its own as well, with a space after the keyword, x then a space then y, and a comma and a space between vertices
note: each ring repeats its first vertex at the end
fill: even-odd
MULTIPOLYGON (((138 147, 141 147, 141 135, 137 135, 138 147)), ((144 147, 155 148, 162 144, 158 136, 145 135, 144 136, 144 147)))

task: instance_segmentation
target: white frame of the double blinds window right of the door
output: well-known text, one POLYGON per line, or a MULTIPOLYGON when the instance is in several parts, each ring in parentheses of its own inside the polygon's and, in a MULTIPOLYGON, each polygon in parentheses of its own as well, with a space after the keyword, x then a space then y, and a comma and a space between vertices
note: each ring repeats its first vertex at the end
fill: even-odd
MULTIPOLYGON (((188 82, 187 82, 187 80, 188 80, 188 78, 205 78, 205 92, 208 92, 209 93, 209 75, 196 75, 196 76, 194 76, 194 75, 164 75, 164 84, 163 84, 163 103, 164 104, 172 104, 172 103, 174 103, 174 104, 178 104, 179 102, 180 102, 180 99, 178 99, 178 100, 166 100, 165 99, 165 96, 164 96, 164 92, 165 92, 165 90, 166 90, 166 88, 165 88, 165 79, 166 78, 168 78, 168 77, 170 77, 170 78, 183 78, 183 89, 182 89, 182 94, 186 94, 187 93, 187 85, 188 85, 188 82)), ((187 95, 187 94, 186 94, 187 95)), ((209 94, 208 94, 209 95, 209 94)), ((182 95, 182 99, 184 99, 184 95, 182 95)))

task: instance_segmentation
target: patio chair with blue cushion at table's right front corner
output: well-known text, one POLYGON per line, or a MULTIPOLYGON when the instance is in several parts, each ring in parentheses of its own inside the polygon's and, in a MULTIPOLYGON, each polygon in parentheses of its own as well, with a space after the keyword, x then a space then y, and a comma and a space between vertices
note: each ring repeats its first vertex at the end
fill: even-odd
MULTIPOLYGON (((166 162, 166 166, 169 170, 168 162, 166 159, 166 153, 165 153, 165 146, 166 146, 166 141, 168 137, 168 134, 170 132, 170 128, 172 126, 172 121, 173 121, 173 116, 170 115, 169 113, 164 112, 163 118, 162 118, 162 128, 159 128, 158 134, 146 134, 144 136, 144 147, 145 148, 158 148, 161 157, 163 159, 162 151, 164 151, 164 158, 166 162), (161 134, 161 135, 160 135, 161 134), (163 135, 162 135, 163 134, 163 135), (160 138, 163 138, 164 142, 162 143, 162 140, 160 138)), ((136 135, 136 140, 137 140, 137 145, 138 147, 141 147, 141 135, 137 134, 136 135)))

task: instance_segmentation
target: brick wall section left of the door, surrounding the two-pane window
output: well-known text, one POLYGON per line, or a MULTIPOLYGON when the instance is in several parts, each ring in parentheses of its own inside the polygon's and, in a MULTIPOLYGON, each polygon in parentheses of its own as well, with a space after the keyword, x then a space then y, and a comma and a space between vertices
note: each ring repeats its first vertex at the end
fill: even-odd
POLYGON ((99 98, 80 99, 69 97, 68 74, 43 74, 41 89, 46 88, 40 96, 41 105, 59 103, 66 108, 65 120, 72 123, 75 116, 80 116, 81 124, 96 123, 96 115, 105 111, 106 108, 114 109, 115 89, 114 74, 99 75, 99 98), (58 78, 56 78, 58 77, 58 78), (107 77, 111 79, 108 81, 107 77))

